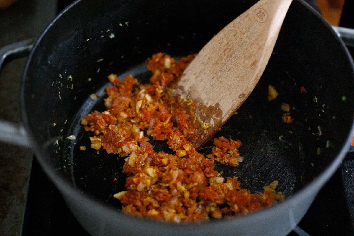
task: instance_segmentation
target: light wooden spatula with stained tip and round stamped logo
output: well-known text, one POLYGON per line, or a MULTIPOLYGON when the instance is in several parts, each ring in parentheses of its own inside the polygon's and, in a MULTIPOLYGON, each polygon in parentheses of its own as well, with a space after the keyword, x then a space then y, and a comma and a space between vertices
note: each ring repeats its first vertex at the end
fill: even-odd
POLYGON ((261 77, 292 0, 260 0, 223 28, 174 85, 188 91, 203 122, 197 148, 208 141, 250 95, 261 77))

